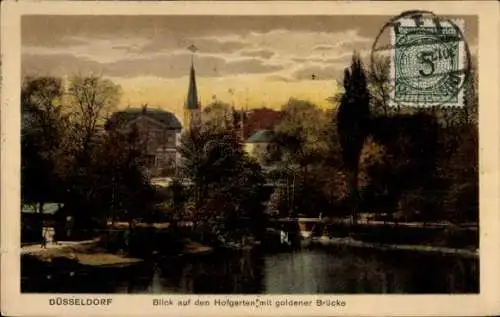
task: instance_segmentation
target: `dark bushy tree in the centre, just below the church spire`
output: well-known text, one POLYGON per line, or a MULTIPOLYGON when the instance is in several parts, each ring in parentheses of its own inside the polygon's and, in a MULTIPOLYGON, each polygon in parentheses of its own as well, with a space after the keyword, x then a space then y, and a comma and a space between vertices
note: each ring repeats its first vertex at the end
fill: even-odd
POLYGON ((262 204, 264 179, 260 166, 246 156, 235 130, 192 129, 184 134, 179 152, 183 176, 193 182, 195 223, 205 226, 223 217, 228 227, 252 215, 262 204))

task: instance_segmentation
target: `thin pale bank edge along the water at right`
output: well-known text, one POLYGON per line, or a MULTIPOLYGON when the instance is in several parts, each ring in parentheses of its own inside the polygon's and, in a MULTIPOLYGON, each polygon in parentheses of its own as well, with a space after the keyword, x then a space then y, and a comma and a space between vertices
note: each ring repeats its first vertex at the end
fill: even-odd
POLYGON ((352 238, 328 238, 322 240, 321 238, 311 239, 313 245, 321 246, 347 246, 353 248, 376 249, 381 251, 413 251, 422 253, 439 253, 441 255, 458 255, 464 258, 479 259, 479 250, 447 248, 428 245, 408 245, 408 244, 383 244, 365 242, 355 240, 352 238))

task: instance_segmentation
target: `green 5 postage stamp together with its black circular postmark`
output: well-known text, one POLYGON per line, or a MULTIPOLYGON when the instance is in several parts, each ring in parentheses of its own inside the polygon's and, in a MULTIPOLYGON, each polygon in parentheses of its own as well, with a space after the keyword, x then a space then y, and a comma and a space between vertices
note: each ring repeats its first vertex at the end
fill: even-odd
POLYGON ((395 106, 462 106, 471 54, 464 22, 429 11, 408 11, 389 20, 371 52, 375 80, 383 83, 395 106), (389 59, 389 74, 377 63, 389 59))

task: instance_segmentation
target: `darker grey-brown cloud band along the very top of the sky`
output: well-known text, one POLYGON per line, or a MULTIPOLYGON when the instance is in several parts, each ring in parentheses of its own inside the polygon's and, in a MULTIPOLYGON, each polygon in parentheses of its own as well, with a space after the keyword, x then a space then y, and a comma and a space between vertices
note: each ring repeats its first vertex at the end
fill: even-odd
POLYGON ((54 15, 23 16, 21 19, 23 44, 51 46, 51 40, 60 36, 81 35, 87 37, 158 37, 178 34, 179 38, 193 36, 220 37, 228 34, 245 35, 249 31, 266 33, 277 28, 290 31, 338 32, 360 28, 370 37, 390 17, 364 16, 220 16, 220 15, 54 15), (361 26, 361 27, 360 27, 361 26))

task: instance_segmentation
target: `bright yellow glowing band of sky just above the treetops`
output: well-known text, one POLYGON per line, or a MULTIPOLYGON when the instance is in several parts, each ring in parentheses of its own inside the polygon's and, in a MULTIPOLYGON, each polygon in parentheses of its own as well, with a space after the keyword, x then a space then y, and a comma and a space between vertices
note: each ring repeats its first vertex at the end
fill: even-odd
MULTIPOLYGON (((139 107, 148 104, 183 118, 183 107, 188 91, 188 77, 163 79, 138 77, 113 78, 120 84, 123 96, 120 107, 139 107)), ((291 97, 312 101, 322 108, 331 108, 326 101, 338 90, 334 80, 276 81, 261 75, 241 75, 221 78, 197 78, 198 97, 202 106, 214 98, 234 104, 236 108, 268 107, 280 109, 291 97), (234 93, 231 94, 230 90, 234 93)))

